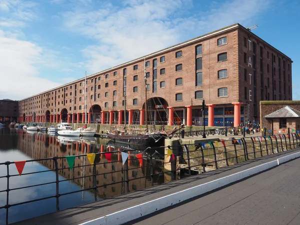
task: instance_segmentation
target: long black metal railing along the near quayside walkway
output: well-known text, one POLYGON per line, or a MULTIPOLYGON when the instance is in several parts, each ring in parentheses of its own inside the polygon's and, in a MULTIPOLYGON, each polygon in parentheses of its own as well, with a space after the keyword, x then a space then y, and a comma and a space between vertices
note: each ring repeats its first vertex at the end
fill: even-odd
MULTIPOLYGON (((6 172, 7 174, 5 176, 0 176, 0 178, 6 178, 7 179, 7 185, 6 189, 0 190, 1 192, 6 192, 6 203, 5 205, 0 205, 0 209, 5 208, 6 209, 6 224, 8 224, 8 209, 10 207, 26 204, 30 202, 40 201, 44 199, 49 198, 55 198, 56 199, 56 210, 59 211, 59 197, 63 195, 68 195, 76 192, 81 192, 85 190, 89 190, 93 192, 94 200, 97 200, 97 189, 100 187, 105 187, 108 185, 113 185, 116 183, 122 183, 125 187, 124 189, 126 191, 123 192, 129 192, 129 182, 136 180, 136 179, 142 179, 142 178, 148 178, 150 180, 151 185, 154 185, 154 166, 159 165, 163 167, 161 171, 158 172, 158 174, 169 174, 171 176, 171 180, 177 179, 177 175, 180 173, 184 173, 184 175, 191 175, 192 171, 195 167, 199 166, 201 168, 201 172, 205 172, 209 169, 218 169, 220 167, 229 166, 232 164, 236 164, 242 161, 246 161, 252 158, 262 157, 264 155, 274 154, 280 151, 286 151, 289 149, 293 149, 298 147, 300 144, 299 135, 297 133, 287 133, 287 134, 276 134, 272 136, 256 136, 256 137, 242 137, 238 139, 232 139, 232 140, 221 140, 221 141, 212 141, 207 143, 197 143, 197 144, 183 144, 181 145, 179 142, 177 145, 172 146, 161 146, 165 149, 169 148, 172 150, 172 154, 170 156, 170 160, 168 161, 167 154, 159 154, 156 150, 158 147, 148 147, 146 149, 135 149, 135 150, 143 150, 142 158, 136 158, 131 157, 127 158, 127 160, 124 162, 123 166, 119 170, 113 170, 110 172, 104 172, 99 173, 97 171, 97 166, 100 164, 105 164, 107 162, 99 162, 94 164, 85 164, 85 165, 78 165, 73 166, 74 168, 78 167, 86 167, 86 166, 92 166, 92 174, 91 175, 83 175, 79 177, 73 177, 73 178, 66 178, 66 179, 59 179, 59 171, 70 169, 70 167, 65 166, 58 166, 58 160, 65 160, 66 156, 61 157, 49 157, 49 158, 43 158, 43 159, 32 159, 32 160, 26 160, 26 162, 42 162, 42 161, 52 161, 54 164, 53 169, 49 170, 42 170, 42 171, 35 171, 35 172, 28 172, 23 173, 24 175, 30 175, 34 173, 43 173, 43 172, 55 172, 55 180, 51 182, 45 182, 40 184, 34 184, 34 185, 27 185, 27 186, 21 186, 21 187, 15 187, 10 188, 9 186, 9 179, 13 176, 19 176, 19 174, 10 174, 9 172, 9 165, 13 164, 12 161, 6 161, 0 163, 0 165, 6 165, 6 172), (174 156, 174 157, 173 157, 174 156), (164 157, 164 161, 159 161, 157 158, 164 157), (145 165, 137 163, 132 163, 133 160, 147 160, 148 163, 145 163, 145 165), (130 162, 131 161, 131 162, 130 162), (128 164, 133 164, 132 167, 128 167, 128 164), (186 165, 184 167, 180 167, 180 165, 186 165), (169 169, 165 169, 168 168, 169 169), (128 171, 137 169, 137 168, 147 168, 149 169, 149 174, 146 173, 143 176, 129 178, 128 171), (209 169, 208 169, 209 168, 209 169), (186 171, 186 172, 185 172, 186 171), (96 179, 97 176, 108 174, 108 173, 122 173, 123 179, 121 181, 116 182, 110 182, 105 183, 102 185, 97 185, 96 179), (70 181, 74 179, 79 178, 85 178, 85 177, 91 177, 92 178, 92 186, 88 188, 82 188, 79 190, 69 191, 69 192, 63 192, 61 193, 59 191, 59 184, 64 181, 70 181), (31 199, 27 201, 17 202, 13 204, 9 204, 9 192, 12 190, 20 190, 23 188, 29 188, 29 187, 35 187, 35 186, 42 186, 46 184, 53 184, 55 183, 56 186, 56 193, 54 195, 48 195, 45 197, 40 197, 36 199, 31 199)), ((161 148, 160 147, 160 148, 161 148)), ((166 150, 165 150, 166 152, 166 150)), ((95 153, 96 155, 105 153, 120 153, 120 151, 107 151, 107 152, 98 152, 95 153)), ((76 158, 84 157, 87 154, 80 154, 75 155, 76 158)), ((103 156, 103 155, 102 155, 103 156)), ((131 154, 131 156, 134 156, 131 154)), ((122 162, 122 160, 114 160, 110 161, 110 163, 115 162, 122 162)), ((137 161, 136 161, 137 162, 137 161)), ((105 166, 105 165, 104 165, 105 166)))

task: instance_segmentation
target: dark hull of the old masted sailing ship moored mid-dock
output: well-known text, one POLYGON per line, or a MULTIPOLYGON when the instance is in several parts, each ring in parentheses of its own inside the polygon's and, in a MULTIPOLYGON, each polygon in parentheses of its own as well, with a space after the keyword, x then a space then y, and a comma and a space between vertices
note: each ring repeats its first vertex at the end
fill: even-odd
POLYGON ((163 146, 165 135, 161 133, 144 134, 144 135, 116 135, 114 133, 107 132, 108 138, 123 142, 123 143, 135 143, 144 146, 163 146))

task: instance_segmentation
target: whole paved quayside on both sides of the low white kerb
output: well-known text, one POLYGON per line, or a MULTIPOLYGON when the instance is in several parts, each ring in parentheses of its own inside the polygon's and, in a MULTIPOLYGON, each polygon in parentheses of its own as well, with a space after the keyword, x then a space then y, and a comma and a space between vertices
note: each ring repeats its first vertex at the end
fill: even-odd
MULTIPOLYGON (((229 167, 20 221, 16 224, 80 224, 298 151, 299 149, 293 149, 252 159, 229 167)), ((176 204, 174 208, 165 208, 149 218, 141 217, 142 220, 135 221, 135 223, 155 223, 155 225, 171 223, 180 225, 239 224, 238 222, 241 221, 240 224, 267 224, 267 222, 269 224, 288 224, 287 222, 293 221, 292 219, 296 221, 297 217, 295 216, 300 212, 300 202, 298 202, 300 196, 299 165, 300 159, 290 161, 201 198, 189 199, 188 203, 176 204), (263 218, 267 220, 263 221, 263 218)))

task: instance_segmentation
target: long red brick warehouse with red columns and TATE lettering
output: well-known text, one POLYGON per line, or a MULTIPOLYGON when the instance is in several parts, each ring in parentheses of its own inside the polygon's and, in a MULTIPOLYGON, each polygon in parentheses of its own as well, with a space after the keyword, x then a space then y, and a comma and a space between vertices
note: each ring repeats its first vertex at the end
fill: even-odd
MULTIPOLYGON (((291 59, 236 23, 87 76, 88 123, 208 126, 259 121, 260 100, 291 100, 291 59), (144 74, 147 86, 145 91, 144 74)), ((19 120, 84 121, 84 78, 19 101, 19 120)))

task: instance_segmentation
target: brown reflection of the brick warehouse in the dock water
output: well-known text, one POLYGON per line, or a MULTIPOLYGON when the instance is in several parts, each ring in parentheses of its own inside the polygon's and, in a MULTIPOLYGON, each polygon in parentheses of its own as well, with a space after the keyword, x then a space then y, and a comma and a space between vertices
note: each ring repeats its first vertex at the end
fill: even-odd
MULTIPOLYGON (((19 138, 17 147, 22 152, 34 159, 49 158, 49 157, 61 157, 67 155, 78 155, 84 153, 97 153, 105 151, 114 151, 113 147, 108 147, 104 144, 99 144, 96 141, 89 140, 59 140, 57 136, 51 136, 44 133, 28 133, 26 131, 19 131, 19 138)), ((118 150, 121 150, 118 148, 118 150)), ((128 177, 133 179, 129 181, 129 191, 145 188, 151 185, 150 177, 143 177, 145 174, 150 174, 150 166, 139 167, 139 162, 134 155, 129 153, 128 160, 128 177), (143 177, 140 179, 134 179, 137 177, 143 177)), ((125 182, 125 171, 122 165, 122 158, 120 152, 114 152, 111 155, 111 163, 105 158, 104 154, 97 154, 95 157, 96 163, 96 185, 102 186, 97 188, 97 195, 99 197, 111 197, 127 192, 125 182), (118 182, 115 184, 114 183, 118 182)), ((82 176, 88 176, 85 178, 77 178, 72 182, 76 183, 83 188, 90 188, 93 186, 92 181, 92 166, 90 165, 86 156, 76 157, 74 166, 71 171, 68 169, 68 163, 65 158, 57 159, 59 174, 64 176, 66 179, 76 178, 82 176), (87 165, 87 166, 83 166, 87 165), (60 169, 62 168, 62 169, 60 169)), ((49 169, 55 169, 53 160, 42 160, 41 164, 45 165, 49 169)), ((143 159, 143 165, 146 165, 149 161, 143 159)), ((158 168, 159 169, 159 168, 158 168)), ((160 177, 163 182, 163 177, 160 177)), ((156 177, 157 179, 157 177, 156 177)), ((155 181, 155 179, 154 179, 155 181)), ((68 190, 62 190, 67 192, 68 190)), ((91 190, 93 191, 93 190, 91 190)))

